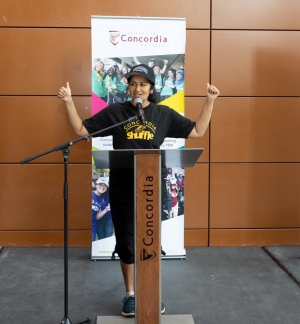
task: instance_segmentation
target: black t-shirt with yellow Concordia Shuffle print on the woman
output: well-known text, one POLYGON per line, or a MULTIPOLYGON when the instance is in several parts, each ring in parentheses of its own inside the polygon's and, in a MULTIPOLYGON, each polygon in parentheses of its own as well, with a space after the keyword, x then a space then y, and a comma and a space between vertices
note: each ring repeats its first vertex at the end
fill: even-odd
MULTIPOLYGON (((159 149, 166 137, 187 138, 195 122, 183 117, 168 106, 150 103, 144 109, 146 125, 139 120, 106 130, 97 136, 113 136, 114 149, 159 149)), ((89 132, 94 133, 121 123, 137 114, 130 101, 115 103, 83 121, 89 132)))

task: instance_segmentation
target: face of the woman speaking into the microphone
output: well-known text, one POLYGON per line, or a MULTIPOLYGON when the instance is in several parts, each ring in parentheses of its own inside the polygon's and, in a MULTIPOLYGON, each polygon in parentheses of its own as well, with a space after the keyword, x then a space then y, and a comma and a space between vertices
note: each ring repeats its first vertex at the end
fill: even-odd
POLYGON ((150 94, 150 82, 140 75, 133 75, 129 81, 129 93, 132 98, 131 103, 137 98, 142 99, 142 106, 145 107, 149 104, 148 97, 150 94))

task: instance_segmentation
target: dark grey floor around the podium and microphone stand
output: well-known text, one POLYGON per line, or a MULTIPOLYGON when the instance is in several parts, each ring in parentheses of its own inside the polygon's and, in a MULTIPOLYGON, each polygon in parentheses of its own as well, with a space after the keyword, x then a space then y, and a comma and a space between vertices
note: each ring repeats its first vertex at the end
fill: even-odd
MULTIPOLYGON (((0 248, 0 323, 119 316, 119 262, 91 261, 90 252, 69 248, 65 313, 63 248, 0 248)), ((300 247, 187 248, 186 255, 162 260, 167 315, 191 314, 195 324, 300 323, 300 247)))

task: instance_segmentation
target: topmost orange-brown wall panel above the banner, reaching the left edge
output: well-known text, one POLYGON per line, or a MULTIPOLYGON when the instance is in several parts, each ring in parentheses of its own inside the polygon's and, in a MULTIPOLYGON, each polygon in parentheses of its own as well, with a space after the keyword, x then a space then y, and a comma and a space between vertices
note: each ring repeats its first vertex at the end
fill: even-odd
POLYGON ((186 17, 188 28, 209 28, 210 0, 1 0, 0 26, 90 27, 91 16, 186 17))

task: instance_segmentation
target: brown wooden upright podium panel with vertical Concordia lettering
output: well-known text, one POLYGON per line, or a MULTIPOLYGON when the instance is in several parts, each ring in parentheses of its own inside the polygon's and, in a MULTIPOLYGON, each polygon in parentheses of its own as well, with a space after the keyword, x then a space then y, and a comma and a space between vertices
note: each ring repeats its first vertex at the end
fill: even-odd
POLYGON ((160 323, 160 155, 136 155, 135 317, 160 323))

